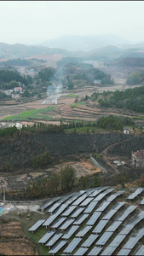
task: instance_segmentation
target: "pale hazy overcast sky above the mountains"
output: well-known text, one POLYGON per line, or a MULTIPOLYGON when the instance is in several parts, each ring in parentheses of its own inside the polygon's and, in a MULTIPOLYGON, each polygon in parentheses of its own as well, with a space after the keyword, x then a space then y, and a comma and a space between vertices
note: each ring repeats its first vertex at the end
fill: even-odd
POLYGON ((0 1, 0 42, 115 34, 144 41, 143 1, 0 1))

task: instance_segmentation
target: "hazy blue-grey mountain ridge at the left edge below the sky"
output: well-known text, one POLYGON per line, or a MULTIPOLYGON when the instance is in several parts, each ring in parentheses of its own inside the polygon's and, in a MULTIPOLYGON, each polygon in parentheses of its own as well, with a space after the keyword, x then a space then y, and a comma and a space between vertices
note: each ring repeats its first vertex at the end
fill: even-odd
POLYGON ((50 49, 43 46, 26 46, 24 44, 4 44, 0 43, 0 59, 17 59, 31 57, 32 55, 62 55, 69 53, 66 49, 50 49))

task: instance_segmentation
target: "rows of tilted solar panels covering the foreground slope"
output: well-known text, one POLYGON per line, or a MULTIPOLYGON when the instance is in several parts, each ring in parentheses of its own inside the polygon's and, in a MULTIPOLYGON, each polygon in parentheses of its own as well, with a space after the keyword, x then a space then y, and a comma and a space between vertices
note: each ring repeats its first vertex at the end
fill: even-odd
MULTIPOLYGON (((142 191, 143 188, 136 189, 130 198, 142 191)), ((132 235, 144 219, 144 211, 120 201, 124 192, 99 187, 54 198, 39 207, 48 218, 37 221, 29 231, 45 229, 45 235, 37 242, 48 247, 48 253, 53 255, 129 255, 134 248, 135 255, 144 255, 144 229, 132 235)))

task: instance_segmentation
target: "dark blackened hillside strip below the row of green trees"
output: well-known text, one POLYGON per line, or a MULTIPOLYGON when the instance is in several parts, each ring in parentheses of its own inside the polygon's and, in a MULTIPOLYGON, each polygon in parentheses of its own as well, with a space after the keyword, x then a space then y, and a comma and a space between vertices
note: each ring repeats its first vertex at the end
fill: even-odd
POLYGON ((32 167, 32 157, 46 151, 52 156, 101 153, 107 146, 133 138, 123 133, 65 134, 25 133, 0 141, 0 171, 12 171, 32 167))

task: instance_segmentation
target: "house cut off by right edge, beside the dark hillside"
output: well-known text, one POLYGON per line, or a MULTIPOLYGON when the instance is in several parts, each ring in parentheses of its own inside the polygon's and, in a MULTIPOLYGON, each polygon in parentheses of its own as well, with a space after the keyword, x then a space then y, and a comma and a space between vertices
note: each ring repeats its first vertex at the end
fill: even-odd
POLYGON ((132 152, 132 164, 136 167, 144 167, 144 150, 132 152))

